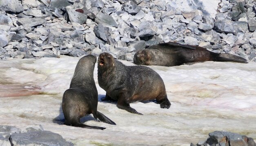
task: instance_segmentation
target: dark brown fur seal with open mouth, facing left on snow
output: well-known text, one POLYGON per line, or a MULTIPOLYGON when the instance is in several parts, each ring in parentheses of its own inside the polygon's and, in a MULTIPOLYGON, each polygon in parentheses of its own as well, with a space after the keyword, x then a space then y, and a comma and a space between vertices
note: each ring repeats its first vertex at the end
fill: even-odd
POLYGON ((98 83, 106 93, 102 101, 116 100, 117 107, 134 114, 141 114, 130 107, 134 101, 154 100, 161 108, 169 108, 163 79, 145 66, 126 66, 115 60, 109 53, 98 58, 98 83))

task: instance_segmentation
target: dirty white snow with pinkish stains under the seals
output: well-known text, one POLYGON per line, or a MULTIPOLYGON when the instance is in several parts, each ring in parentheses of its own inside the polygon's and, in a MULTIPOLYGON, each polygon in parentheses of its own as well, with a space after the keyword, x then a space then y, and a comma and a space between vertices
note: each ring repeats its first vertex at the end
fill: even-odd
MULTIPOLYGON (((202 62, 177 67, 148 66, 163 78, 169 109, 156 103, 131 103, 143 116, 118 109, 116 103, 98 102, 98 111, 116 122, 96 122, 82 118, 87 125, 105 130, 60 125, 62 94, 69 88, 80 58, 0 60, 0 125, 25 129, 42 125, 77 146, 165 145, 188 146, 205 140, 220 130, 256 139, 256 63, 202 62), (55 120, 54 120, 55 119, 55 120), (57 120, 57 121, 56 121, 57 120)), ((121 60, 126 65, 133 62, 121 60)), ((94 79, 99 99, 105 91, 94 79)))

